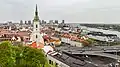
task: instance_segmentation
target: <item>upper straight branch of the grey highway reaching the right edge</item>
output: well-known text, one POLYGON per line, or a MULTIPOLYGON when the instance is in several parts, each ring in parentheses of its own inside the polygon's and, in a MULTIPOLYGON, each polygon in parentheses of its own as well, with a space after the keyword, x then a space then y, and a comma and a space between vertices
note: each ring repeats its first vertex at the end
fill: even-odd
POLYGON ((63 50, 70 50, 75 52, 120 52, 120 47, 114 46, 105 46, 105 47, 87 47, 87 48, 80 48, 80 47, 62 47, 63 50))

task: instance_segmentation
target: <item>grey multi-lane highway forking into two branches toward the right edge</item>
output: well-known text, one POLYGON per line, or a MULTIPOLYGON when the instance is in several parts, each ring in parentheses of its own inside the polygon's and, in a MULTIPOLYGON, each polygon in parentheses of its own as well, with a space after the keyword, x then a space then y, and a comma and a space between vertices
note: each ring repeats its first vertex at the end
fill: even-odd
POLYGON ((114 53, 120 52, 120 46, 102 46, 102 47, 98 46, 98 47, 82 48, 82 47, 74 47, 74 46, 64 44, 63 46, 57 47, 56 49, 60 51, 65 51, 65 52, 70 51, 69 53, 71 54, 88 54, 88 55, 103 56, 103 57, 120 60, 119 55, 108 54, 111 52, 114 52, 114 53))

